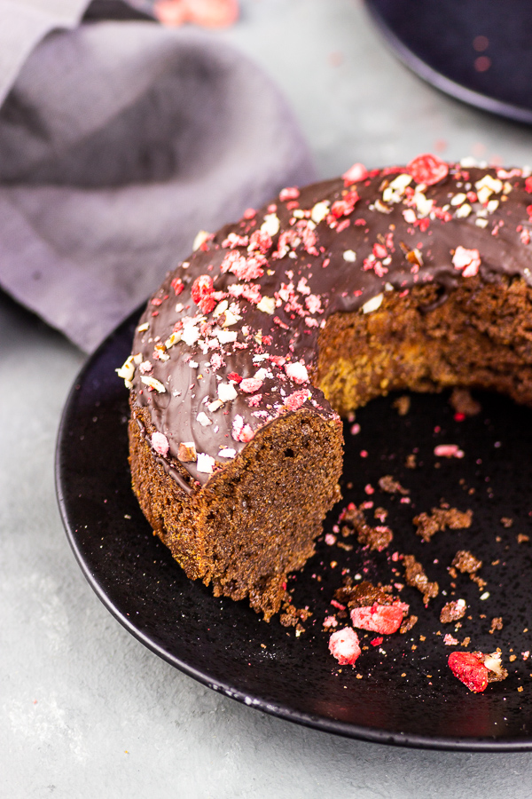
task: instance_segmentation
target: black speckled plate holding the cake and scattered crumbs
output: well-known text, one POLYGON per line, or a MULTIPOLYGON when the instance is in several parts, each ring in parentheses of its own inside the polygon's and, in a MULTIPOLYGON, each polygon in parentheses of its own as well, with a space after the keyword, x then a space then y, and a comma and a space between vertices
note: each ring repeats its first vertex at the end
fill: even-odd
POLYGON ((326 531, 332 532, 346 502, 371 499, 389 510, 395 540, 380 555, 362 550, 353 537, 338 539, 353 544, 352 550, 318 542, 317 555, 290 581, 295 604, 314 612, 295 637, 275 619, 261 621, 245 602, 215 599, 200 582, 187 580, 138 509, 129 487, 128 397, 114 373, 129 354, 135 321, 136 316, 118 328, 83 368, 66 403, 57 450, 59 504, 69 541, 116 619, 185 674, 299 724, 424 748, 532 748, 532 658, 524 661, 521 654, 532 650, 532 632, 523 632, 532 629, 531 412, 482 395, 481 414, 458 422, 448 395, 414 395, 408 415, 399 416, 387 397, 358 413, 357 435, 346 423, 345 499, 326 531), (465 456, 436 458, 434 447, 448 443, 457 443, 465 456), (404 464, 414 447, 419 468, 411 470, 404 464), (385 474, 411 490, 411 503, 379 490, 385 474), (442 498, 458 509, 471 508, 473 526, 423 542, 412 517, 442 498), (503 517, 513 519, 511 527, 501 524, 503 517), (454 597, 465 598, 472 618, 456 630, 442 625, 439 613, 451 598, 447 567, 459 549, 482 559, 489 597, 481 599, 477 585, 458 574, 454 597), (369 646, 356 668, 339 668, 328 653, 322 622, 333 610, 329 602, 342 570, 375 581, 393 577, 395 568, 395 581, 403 582, 400 561, 390 557, 394 551, 415 554, 447 597, 441 594, 424 608, 418 591, 406 587, 401 596, 418 624, 380 646, 370 645, 373 634, 362 634, 369 646), (496 616, 504 628, 491 635, 496 616), (470 637, 470 650, 499 646, 508 678, 485 693, 468 692, 446 665, 451 649, 460 648, 443 644, 446 632, 460 641, 470 637))

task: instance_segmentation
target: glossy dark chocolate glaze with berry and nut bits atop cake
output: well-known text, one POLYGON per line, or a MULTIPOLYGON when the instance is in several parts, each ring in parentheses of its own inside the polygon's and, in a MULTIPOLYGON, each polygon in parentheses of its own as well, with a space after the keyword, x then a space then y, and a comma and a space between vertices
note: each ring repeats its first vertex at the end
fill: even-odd
POLYGON ((287 188, 200 236, 149 301, 119 370, 149 410, 154 452, 205 484, 279 415, 335 417, 311 384, 328 317, 372 312, 385 292, 428 281, 443 302, 477 273, 532 285, 531 218, 528 173, 428 155, 287 188))

